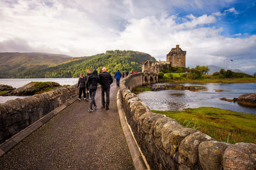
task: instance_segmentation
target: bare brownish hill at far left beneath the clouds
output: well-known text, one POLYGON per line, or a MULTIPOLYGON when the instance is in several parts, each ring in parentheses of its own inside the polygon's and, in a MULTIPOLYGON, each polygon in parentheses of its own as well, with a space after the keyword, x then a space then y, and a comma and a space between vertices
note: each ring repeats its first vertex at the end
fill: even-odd
POLYGON ((17 78, 27 71, 36 71, 70 60, 67 55, 51 53, 0 53, 0 78, 17 78))

